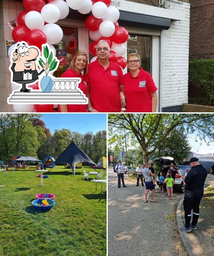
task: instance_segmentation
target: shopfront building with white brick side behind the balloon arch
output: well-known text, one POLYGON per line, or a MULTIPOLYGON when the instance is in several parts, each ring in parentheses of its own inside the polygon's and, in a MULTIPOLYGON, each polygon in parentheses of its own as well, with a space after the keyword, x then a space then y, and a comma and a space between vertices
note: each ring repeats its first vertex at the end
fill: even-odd
MULTIPOLYGON (((128 53, 137 52, 142 67, 153 76, 158 88, 157 111, 182 112, 182 104, 188 102, 189 0, 114 0, 111 5, 120 10, 118 23, 129 33, 124 58, 128 53)), ((14 21, 23 10, 21 0, 0 1, 1 112, 13 111, 7 104, 11 93, 7 43, 13 40, 8 22, 14 21)), ((57 51, 57 56, 63 54, 66 62, 59 65, 55 77, 69 67, 76 50, 88 53, 91 39, 84 23, 86 17, 70 9, 67 18, 57 22, 63 30, 63 39, 54 46, 56 50, 63 50, 57 51)))

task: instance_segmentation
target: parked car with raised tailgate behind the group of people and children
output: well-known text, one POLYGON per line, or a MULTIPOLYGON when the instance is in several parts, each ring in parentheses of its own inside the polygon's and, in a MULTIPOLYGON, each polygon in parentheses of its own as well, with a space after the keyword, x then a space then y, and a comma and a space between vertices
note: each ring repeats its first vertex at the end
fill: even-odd
MULTIPOLYGON (((174 164, 174 167, 176 167, 178 169, 178 175, 175 178, 175 183, 173 188, 176 189, 178 192, 180 193, 184 193, 184 185, 183 185, 183 179, 182 176, 185 175, 186 170, 183 170, 179 167, 178 162, 170 157, 170 156, 162 156, 159 158, 155 159, 156 162, 160 162, 162 164, 162 168, 159 171, 159 173, 157 174, 157 176, 160 176, 161 171, 164 173, 164 177, 166 177, 166 174, 168 172, 168 169, 170 167, 170 164, 174 164)), ((157 185, 159 185, 159 182, 157 181, 157 185)), ((164 184, 164 187, 166 185, 164 184)))

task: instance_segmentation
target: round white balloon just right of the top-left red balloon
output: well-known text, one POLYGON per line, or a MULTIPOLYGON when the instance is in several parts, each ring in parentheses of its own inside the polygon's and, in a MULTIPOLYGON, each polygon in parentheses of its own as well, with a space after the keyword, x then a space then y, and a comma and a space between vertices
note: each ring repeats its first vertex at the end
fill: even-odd
POLYGON ((59 20, 60 11, 54 4, 46 4, 41 10, 42 17, 44 21, 48 23, 55 23, 59 20))

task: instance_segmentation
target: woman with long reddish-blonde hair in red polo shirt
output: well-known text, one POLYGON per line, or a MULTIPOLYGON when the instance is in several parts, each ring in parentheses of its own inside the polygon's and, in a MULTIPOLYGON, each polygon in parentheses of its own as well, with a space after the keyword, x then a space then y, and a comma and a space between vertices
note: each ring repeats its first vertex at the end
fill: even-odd
MULTIPOLYGON (((88 93, 88 56, 84 51, 76 51, 70 68, 65 71, 61 77, 80 77, 81 83, 78 88, 87 96, 90 103, 90 96, 88 93)), ((58 105, 59 112, 97 112, 94 108, 87 110, 87 105, 58 105)))

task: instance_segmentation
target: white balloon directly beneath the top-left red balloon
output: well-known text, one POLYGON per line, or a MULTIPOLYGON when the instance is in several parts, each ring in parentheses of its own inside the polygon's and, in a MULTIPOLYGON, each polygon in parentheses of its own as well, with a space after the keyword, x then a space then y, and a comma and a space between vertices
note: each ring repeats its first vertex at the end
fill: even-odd
POLYGON ((44 27, 42 14, 36 11, 30 11, 25 15, 25 24, 29 29, 40 29, 44 27))

